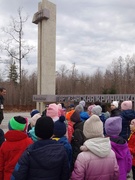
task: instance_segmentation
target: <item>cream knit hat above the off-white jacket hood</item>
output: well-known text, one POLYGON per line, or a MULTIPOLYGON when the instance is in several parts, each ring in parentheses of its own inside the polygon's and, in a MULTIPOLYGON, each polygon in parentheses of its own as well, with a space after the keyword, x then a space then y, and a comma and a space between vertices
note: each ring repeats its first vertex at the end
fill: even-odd
POLYGON ((83 134, 87 139, 104 137, 103 135, 103 123, 99 116, 92 115, 84 122, 83 134))

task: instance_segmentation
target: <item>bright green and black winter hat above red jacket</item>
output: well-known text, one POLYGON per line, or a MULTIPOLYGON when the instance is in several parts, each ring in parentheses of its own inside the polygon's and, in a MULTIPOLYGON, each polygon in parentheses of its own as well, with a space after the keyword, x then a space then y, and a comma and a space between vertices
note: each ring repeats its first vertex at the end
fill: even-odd
POLYGON ((25 131, 27 120, 22 116, 14 116, 9 120, 9 130, 25 131))

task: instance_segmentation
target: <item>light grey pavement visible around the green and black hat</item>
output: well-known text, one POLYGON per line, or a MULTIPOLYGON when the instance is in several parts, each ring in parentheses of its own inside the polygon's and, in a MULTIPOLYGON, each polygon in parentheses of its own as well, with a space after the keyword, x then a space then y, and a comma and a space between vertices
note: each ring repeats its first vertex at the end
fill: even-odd
POLYGON ((14 116, 23 116, 30 119, 30 112, 6 112, 4 113, 4 120, 0 125, 0 128, 3 129, 4 132, 8 130, 8 122, 14 116))

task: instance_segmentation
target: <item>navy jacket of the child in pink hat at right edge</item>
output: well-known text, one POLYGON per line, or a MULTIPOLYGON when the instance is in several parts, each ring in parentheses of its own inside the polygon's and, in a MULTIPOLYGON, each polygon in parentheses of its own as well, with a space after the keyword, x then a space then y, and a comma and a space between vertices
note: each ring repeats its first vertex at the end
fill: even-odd
POLYGON ((122 131, 120 133, 120 136, 122 136, 126 141, 128 141, 128 138, 130 136, 130 122, 132 119, 135 118, 135 111, 132 109, 129 110, 123 110, 121 112, 122 117, 122 131))

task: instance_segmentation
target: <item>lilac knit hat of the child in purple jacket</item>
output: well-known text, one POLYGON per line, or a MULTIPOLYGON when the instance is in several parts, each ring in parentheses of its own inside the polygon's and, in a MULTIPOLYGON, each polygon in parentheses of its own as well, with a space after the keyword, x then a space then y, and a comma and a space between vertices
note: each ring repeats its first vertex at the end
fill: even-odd
POLYGON ((122 130, 122 118, 110 117, 105 121, 105 132, 109 136, 118 136, 122 130))

